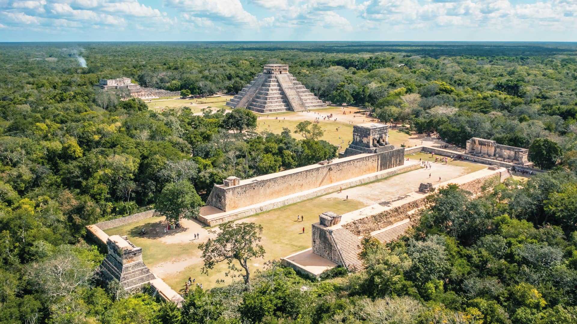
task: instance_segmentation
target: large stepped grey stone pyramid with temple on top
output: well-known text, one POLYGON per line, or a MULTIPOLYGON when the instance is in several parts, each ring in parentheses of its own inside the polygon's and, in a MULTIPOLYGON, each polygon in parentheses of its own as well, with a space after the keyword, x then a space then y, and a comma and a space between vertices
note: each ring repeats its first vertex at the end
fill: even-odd
POLYGON ((327 107, 305 88, 293 74, 288 73, 288 65, 265 65, 263 73, 245 85, 228 107, 248 108, 261 114, 278 111, 305 111, 327 107))

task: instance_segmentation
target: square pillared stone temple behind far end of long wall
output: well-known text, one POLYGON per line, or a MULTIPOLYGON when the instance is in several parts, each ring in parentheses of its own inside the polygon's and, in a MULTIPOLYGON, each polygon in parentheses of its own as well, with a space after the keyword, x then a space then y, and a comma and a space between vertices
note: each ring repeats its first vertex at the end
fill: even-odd
POLYGON ((395 149, 389 144, 389 126, 381 123, 363 123, 353 126, 353 142, 340 157, 361 153, 380 153, 395 149))

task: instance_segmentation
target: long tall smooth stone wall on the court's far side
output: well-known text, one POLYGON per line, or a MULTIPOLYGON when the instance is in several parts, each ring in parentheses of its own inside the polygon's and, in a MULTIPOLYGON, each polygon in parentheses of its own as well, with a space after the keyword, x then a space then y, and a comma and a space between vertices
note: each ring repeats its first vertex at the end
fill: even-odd
POLYGON ((333 163, 308 165, 242 180, 237 186, 215 185, 207 205, 224 211, 243 208, 331 183, 403 165, 404 148, 383 153, 335 159, 333 163))

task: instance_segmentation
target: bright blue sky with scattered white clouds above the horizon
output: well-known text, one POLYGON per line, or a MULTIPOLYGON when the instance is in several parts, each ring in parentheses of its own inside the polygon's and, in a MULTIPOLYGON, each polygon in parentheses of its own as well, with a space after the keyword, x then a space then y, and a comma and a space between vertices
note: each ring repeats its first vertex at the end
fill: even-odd
POLYGON ((577 0, 0 0, 0 42, 577 41, 577 0))

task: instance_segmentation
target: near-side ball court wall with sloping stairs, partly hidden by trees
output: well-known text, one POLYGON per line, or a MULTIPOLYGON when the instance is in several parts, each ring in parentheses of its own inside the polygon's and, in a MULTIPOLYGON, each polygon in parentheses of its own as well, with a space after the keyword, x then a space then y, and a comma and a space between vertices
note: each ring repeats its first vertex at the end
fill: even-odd
MULTIPOLYGON (((344 266, 350 271, 362 270, 365 268, 359 256, 362 251, 362 240, 365 237, 372 237, 381 243, 387 243, 404 235, 407 230, 418 223, 421 210, 428 204, 426 197, 433 194, 435 187, 456 183, 461 189, 471 193, 471 199, 475 199, 486 194, 483 186, 487 180, 497 179, 503 182, 510 176, 511 172, 508 169, 486 168, 436 186, 422 183, 429 190, 428 193, 415 191, 343 215, 325 212, 319 216, 319 222, 312 225, 312 253, 326 259, 329 263, 344 266)), ((308 253, 308 250, 302 253, 308 253)), ((295 255, 298 254, 291 255, 291 259, 283 258, 283 264, 300 272, 306 272, 304 269, 306 266, 301 266, 294 261, 298 259, 295 255)))

